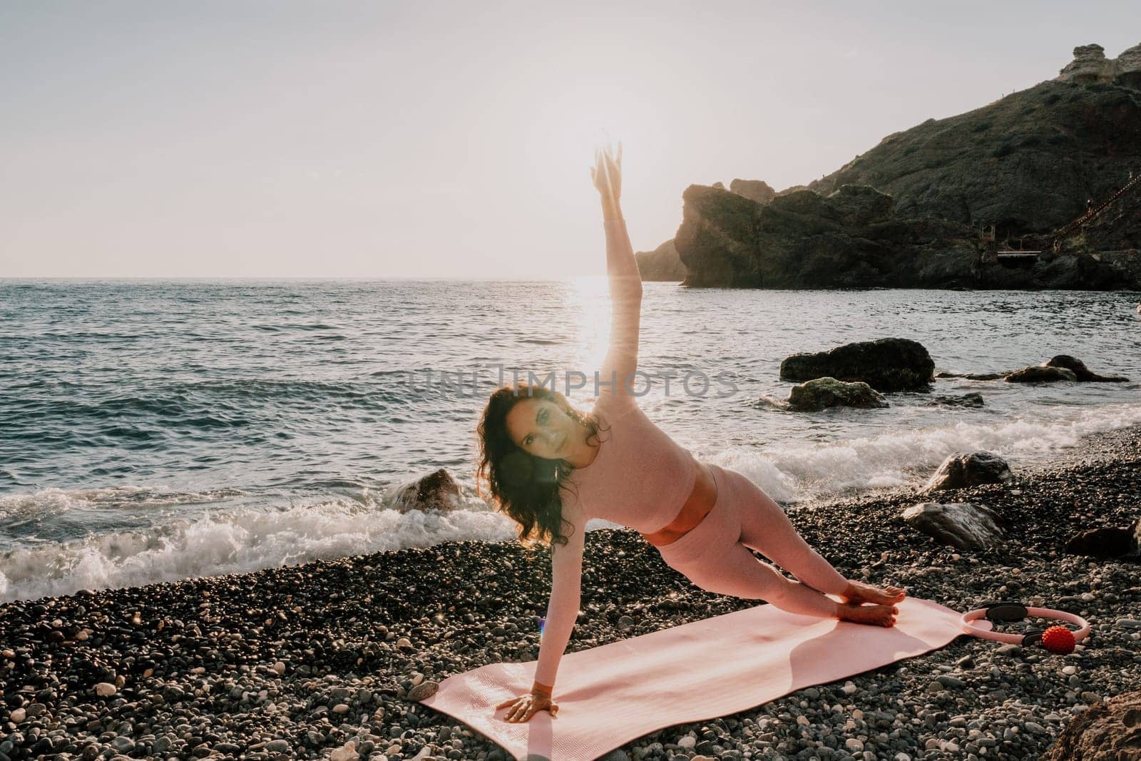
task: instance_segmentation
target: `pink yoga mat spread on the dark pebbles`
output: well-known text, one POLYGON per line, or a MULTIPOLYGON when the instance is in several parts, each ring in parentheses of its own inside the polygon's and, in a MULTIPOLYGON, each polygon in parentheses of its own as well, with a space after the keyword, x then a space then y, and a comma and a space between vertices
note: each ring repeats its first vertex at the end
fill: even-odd
POLYGON ((944 647, 960 613, 906 598, 893 628, 785 613, 771 605, 567 653, 558 718, 509 723, 495 705, 531 690, 535 663, 495 663, 448 677, 424 701, 519 761, 588 761, 648 732, 723 717, 812 685, 944 647))

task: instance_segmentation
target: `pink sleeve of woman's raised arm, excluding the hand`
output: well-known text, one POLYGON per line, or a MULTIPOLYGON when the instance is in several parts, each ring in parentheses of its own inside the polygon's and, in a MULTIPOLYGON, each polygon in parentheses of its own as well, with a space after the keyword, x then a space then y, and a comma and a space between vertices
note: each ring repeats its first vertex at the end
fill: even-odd
POLYGON ((629 394, 638 369, 638 333, 641 329, 641 275, 630 244, 626 222, 616 202, 602 202, 606 229, 606 274, 610 292, 610 345, 599 370, 599 396, 629 394), (614 383, 604 386, 604 383, 614 383))

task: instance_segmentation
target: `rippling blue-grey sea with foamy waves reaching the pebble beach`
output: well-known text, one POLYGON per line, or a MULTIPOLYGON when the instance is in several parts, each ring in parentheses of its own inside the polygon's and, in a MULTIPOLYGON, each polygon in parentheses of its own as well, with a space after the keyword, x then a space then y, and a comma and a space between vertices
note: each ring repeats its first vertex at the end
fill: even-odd
MULTIPOLYGON (((788 510, 921 485, 958 451, 1017 471, 1141 423, 1136 292, 644 293, 639 404, 788 510), (782 404, 783 358, 887 337, 921 342, 937 371, 1068 354, 1132 380, 782 404), (984 406, 938 398, 970 392, 984 406)), ((486 398, 518 378, 589 408, 608 331, 605 277, 0 281, 0 601, 511 541, 476 489, 486 398), (396 500, 439 468, 461 509, 396 500)))

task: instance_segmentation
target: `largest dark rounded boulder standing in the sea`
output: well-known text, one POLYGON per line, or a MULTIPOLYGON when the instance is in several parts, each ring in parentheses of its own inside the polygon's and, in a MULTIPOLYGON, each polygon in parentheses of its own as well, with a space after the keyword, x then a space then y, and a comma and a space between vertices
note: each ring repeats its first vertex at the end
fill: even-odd
POLYGON ((780 380, 814 378, 867 383, 877 391, 923 389, 931 382, 934 361, 919 341, 881 338, 817 351, 794 354, 780 363, 780 380))

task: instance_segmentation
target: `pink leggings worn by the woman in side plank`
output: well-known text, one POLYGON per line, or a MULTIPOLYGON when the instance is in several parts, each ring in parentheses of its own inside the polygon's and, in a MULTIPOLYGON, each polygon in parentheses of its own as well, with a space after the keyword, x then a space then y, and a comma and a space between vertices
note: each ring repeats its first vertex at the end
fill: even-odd
POLYGON ((709 467, 717 479, 717 502, 681 539, 657 548, 665 564, 710 592, 767 600, 788 613, 834 616, 835 600, 822 592, 840 594, 848 581, 801 539, 784 510, 755 484, 735 470, 709 467), (750 549, 801 583, 786 578, 750 549))

